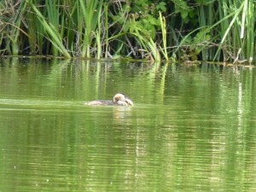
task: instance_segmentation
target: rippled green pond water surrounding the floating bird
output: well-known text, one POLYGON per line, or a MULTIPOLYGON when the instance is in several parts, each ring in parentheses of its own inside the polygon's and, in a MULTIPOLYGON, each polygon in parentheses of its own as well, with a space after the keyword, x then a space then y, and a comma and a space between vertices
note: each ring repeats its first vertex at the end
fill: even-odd
POLYGON ((255 75, 2 59, 0 191, 255 191, 255 75))

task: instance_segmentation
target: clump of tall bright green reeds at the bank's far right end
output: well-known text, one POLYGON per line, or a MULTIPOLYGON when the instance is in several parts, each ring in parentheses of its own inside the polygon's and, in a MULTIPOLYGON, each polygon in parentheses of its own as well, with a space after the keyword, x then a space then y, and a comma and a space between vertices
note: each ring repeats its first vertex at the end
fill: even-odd
POLYGON ((219 10, 220 15, 227 19, 219 27, 221 41, 214 59, 222 50, 224 60, 247 61, 251 64, 255 61, 255 55, 253 55, 255 51, 255 2, 250 0, 219 1, 218 4, 223 7, 219 10), (229 15, 232 16, 228 17, 229 15))

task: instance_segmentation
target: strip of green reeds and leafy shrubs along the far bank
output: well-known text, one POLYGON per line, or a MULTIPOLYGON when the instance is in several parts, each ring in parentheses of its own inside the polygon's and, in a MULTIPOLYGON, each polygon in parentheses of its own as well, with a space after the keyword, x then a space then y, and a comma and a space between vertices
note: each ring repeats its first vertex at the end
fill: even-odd
POLYGON ((0 55, 256 60, 254 0, 3 0, 0 55))

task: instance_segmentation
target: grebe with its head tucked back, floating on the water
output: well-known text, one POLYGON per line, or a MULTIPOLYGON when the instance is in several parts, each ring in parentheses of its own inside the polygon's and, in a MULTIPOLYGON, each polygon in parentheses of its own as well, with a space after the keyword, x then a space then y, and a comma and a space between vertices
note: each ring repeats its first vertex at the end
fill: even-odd
POLYGON ((113 101, 97 100, 92 102, 85 102, 85 105, 119 105, 119 106, 133 106, 133 102, 123 93, 117 93, 113 96, 113 101))

